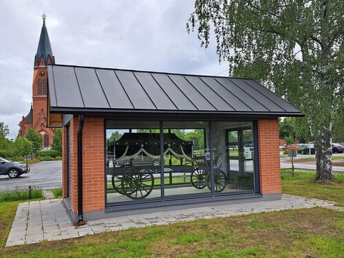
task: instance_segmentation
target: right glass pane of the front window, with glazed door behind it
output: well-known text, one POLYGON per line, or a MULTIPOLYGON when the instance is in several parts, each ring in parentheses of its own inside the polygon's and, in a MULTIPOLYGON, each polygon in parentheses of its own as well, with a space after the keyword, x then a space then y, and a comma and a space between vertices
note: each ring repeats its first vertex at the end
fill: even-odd
POLYGON ((223 193, 255 189, 252 122, 213 122, 213 144, 215 191, 217 186, 223 193), (224 189, 217 173, 226 176, 224 189))

